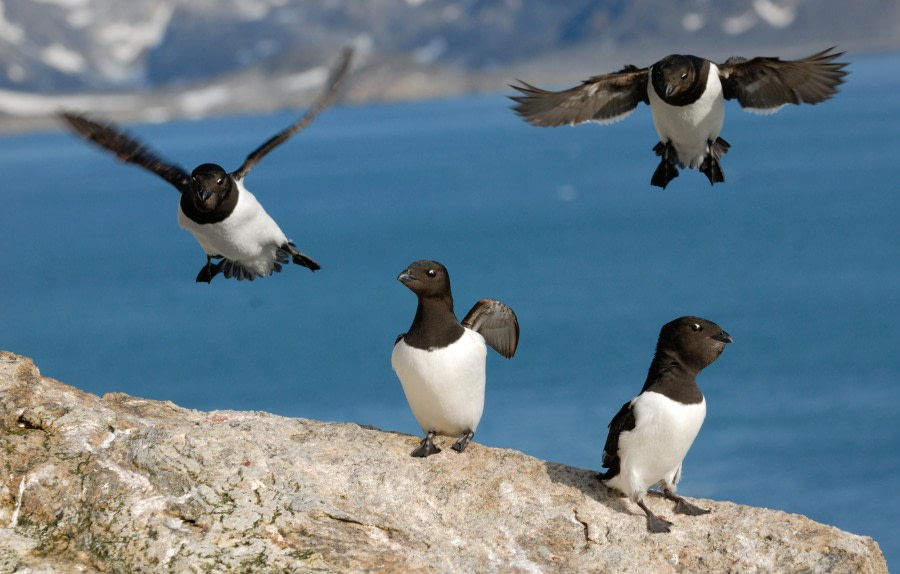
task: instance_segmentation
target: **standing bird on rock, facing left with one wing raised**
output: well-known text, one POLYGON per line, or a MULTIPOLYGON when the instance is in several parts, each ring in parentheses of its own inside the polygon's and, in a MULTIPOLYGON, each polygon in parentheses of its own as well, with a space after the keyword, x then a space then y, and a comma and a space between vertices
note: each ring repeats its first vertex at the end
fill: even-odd
POLYGON ((462 452, 484 410, 485 343, 512 358, 519 342, 516 314, 500 301, 482 299, 460 323, 450 275, 437 261, 416 261, 397 280, 419 299, 409 331, 397 337, 391 353, 391 366, 426 435, 412 456, 441 452, 436 435, 460 437, 453 449, 462 452))

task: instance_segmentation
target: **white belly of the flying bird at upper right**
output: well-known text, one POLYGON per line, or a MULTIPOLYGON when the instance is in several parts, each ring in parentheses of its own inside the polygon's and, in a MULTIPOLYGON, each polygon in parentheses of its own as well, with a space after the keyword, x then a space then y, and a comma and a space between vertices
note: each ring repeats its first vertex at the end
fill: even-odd
POLYGON ((647 95, 660 141, 675 147, 681 167, 699 167, 709 154, 709 142, 716 141, 725 121, 725 100, 718 68, 710 64, 706 90, 693 104, 670 106, 660 99, 651 83, 647 85, 647 95))

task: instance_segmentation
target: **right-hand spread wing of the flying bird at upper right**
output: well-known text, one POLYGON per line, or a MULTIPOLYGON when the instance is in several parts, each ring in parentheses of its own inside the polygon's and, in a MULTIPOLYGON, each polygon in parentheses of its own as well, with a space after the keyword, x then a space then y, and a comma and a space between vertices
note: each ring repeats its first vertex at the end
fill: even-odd
POLYGON ((726 100, 757 113, 773 113, 786 104, 817 104, 837 93, 844 83, 844 52, 834 46, 802 60, 728 58, 718 65, 726 100))

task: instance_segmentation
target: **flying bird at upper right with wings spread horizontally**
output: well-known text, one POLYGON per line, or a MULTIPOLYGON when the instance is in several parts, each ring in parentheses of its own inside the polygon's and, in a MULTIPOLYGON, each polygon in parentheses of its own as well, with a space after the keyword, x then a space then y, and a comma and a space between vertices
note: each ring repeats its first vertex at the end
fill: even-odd
POLYGON ((747 111, 762 114, 786 104, 825 101, 847 75, 847 64, 834 61, 844 53, 833 50, 802 60, 733 57, 724 64, 672 54, 649 68, 625 66, 561 92, 520 81, 511 87, 522 95, 510 97, 517 102, 513 110, 541 127, 612 123, 644 102, 660 139, 653 151, 661 160, 650 184, 665 188, 682 167, 699 168, 712 185, 725 181, 719 159, 731 147, 719 137, 724 100, 736 98, 747 111))

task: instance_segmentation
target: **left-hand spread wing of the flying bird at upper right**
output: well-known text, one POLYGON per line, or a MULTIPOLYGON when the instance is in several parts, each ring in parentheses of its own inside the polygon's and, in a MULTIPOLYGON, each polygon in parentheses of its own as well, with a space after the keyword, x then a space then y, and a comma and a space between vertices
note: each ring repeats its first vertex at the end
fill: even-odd
POLYGON ((519 80, 521 86, 510 87, 522 95, 510 99, 517 102, 513 110, 535 126, 612 123, 633 112, 639 103, 650 103, 647 79, 647 68, 626 66, 614 74, 594 76, 580 86, 561 92, 542 90, 519 80))

